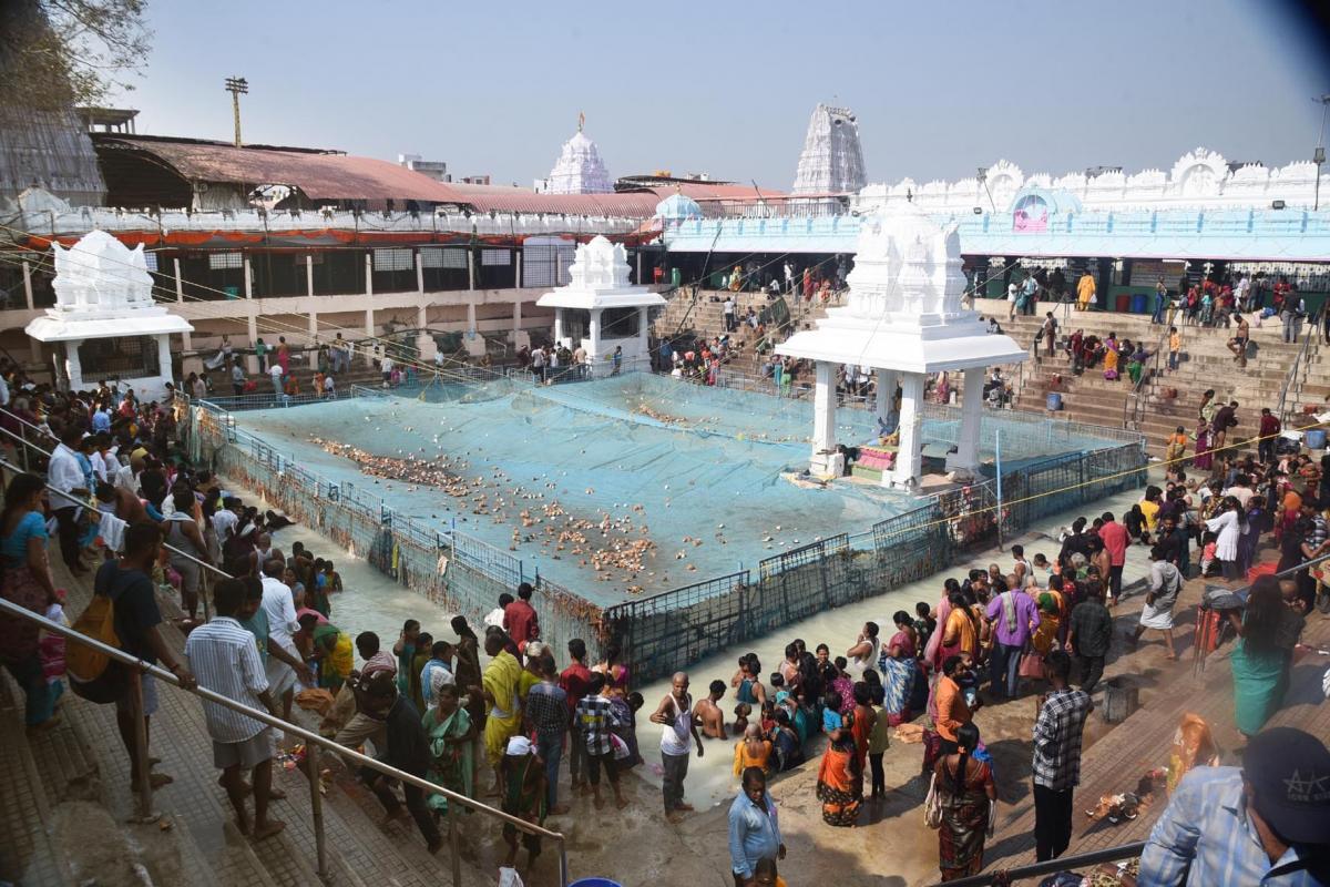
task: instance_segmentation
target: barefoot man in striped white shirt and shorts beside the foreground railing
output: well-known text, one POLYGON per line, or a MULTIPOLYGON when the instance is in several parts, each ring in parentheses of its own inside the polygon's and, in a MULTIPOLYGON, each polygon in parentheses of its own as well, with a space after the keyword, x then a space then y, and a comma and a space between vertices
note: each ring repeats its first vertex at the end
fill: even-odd
MULTIPOLYGON (((254 636, 235 618, 243 602, 245 585, 239 580, 218 582, 213 590, 217 616, 190 632, 185 641, 185 657, 201 688, 277 714, 254 636)), ((273 789, 273 727, 217 702, 203 702, 203 718, 207 735, 213 739, 213 762, 222 771, 222 787, 235 809, 241 834, 253 835, 257 840, 275 835, 285 823, 267 818, 273 789), (253 828, 245 809, 249 787, 242 770, 251 774, 253 828)))

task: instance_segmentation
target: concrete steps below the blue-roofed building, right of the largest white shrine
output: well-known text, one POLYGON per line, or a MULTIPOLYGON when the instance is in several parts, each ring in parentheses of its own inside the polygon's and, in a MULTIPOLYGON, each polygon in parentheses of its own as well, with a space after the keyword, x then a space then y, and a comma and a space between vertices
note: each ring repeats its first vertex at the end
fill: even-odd
MULTIPOLYGON (((1047 395, 1056 391, 1061 394, 1063 410, 1049 412, 1049 418, 1112 427, 1125 424, 1146 436, 1149 452, 1154 456, 1162 456, 1164 442, 1177 426, 1182 426, 1189 434, 1194 431, 1201 396, 1210 388, 1217 400, 1237 400, 1241 404, 1238 436, 1254 435, 1260 410, 1278 407, 1289 368, 1302 347, 1301 343, 1285 343, 1278 326, 1267 322, 1252 328, 1248 364, 1238 367, 1228 350, 1228 340, 1233 335, 1230 328, 1180 326, 1182 359, 1178 368, 1168 370, 1165 342, 1160 372, 1144 380, 1137 404, 1137 395, 1133 395, 1132 382, 1125 374, 1125 362, 1119 367, 1123 375, 1116 382, 1105 380, 1101 368, 1087 370, 1077 376, 1061 347, 1067 336, 1080 328, 1085 335, 1100 338, 1116 332, 1120 339, 1125 336, 1133 342, 1144 342, 1146 351, 1154 351, 1160 347, 1160 338, 1166 327, 1152 326, 1148 315, 1073 311, 1064 317, 1060 306, 1051 305, 1041 305, 1035 317, 1007 320, 1005 315, 999 314, 999 319, 1005 332, 1029 347, 1043 323, 1044 311, 1055 307, 1060 324, 1059 351, 1048 355, 1040 347, 1040 360, 1027 364, 1017 408, 1047 412, 1047 395)), ((1301 412, 1303 404, 1323 404, 1330 395, 1326 356, 1315 340, 1309 346, 1306 360, 1306 382, 1290 395, 1293 412, 1301 412)), ((1153 366, 1153 360, 1146 363, 1148 368, 1153 366)))

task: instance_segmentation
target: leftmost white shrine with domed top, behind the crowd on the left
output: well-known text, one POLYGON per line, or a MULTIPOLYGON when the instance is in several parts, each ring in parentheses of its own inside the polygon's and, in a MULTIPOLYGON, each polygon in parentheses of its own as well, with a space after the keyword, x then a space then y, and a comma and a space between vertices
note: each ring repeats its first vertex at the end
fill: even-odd
POLYGON ((51 249, 56 305, 27 332, 55 346, 57 386, 77 391, 114 379, 140 400, 162 398, 172 380, 170 336, 194 327, 153 301, 142 245, 130 250, 98 230, 51 249))

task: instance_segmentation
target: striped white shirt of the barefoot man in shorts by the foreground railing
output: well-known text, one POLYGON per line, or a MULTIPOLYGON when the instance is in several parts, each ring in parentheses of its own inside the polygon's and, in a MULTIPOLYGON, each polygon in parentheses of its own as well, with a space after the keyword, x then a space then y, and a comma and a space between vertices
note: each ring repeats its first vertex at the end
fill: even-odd
MULTIPOLYGON (((200 625, 185 641, 185 658, 198 686, 219 693, 233 702, 263 709, 258 694, 267 689, 263 662, 254 636, 229 616, 200 625)), ((243 742, 258 735, 265 723, 217 702, 203 701, 207 734, 214 742, 243 742)))

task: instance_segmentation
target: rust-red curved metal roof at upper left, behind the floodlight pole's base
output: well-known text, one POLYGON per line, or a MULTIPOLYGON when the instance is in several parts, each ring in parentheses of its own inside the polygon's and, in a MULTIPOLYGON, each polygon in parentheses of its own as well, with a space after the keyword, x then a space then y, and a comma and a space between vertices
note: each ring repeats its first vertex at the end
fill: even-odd
POLYGON ((235 148, 225 142, 145 138, 118 133, 93 138, 98 148, 152 154, 192 181, 290 185, 314 201, 466 202, 443 182, 372 157, 307 149, 235 148))

